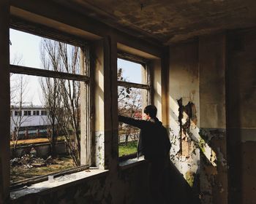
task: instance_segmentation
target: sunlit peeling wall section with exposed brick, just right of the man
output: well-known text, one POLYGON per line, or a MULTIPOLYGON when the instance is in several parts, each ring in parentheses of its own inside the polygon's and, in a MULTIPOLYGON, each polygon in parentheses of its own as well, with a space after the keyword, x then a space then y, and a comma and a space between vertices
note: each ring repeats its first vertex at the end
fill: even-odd
MULTIPOLYGON (((199 78, 198 44, 170 47, 170 158, 195 194, 199 193, 199 78)), ((177 202, 178 200, 176 200, 177 202)), ((181 198, 179 199, 181 201, 181 198)))

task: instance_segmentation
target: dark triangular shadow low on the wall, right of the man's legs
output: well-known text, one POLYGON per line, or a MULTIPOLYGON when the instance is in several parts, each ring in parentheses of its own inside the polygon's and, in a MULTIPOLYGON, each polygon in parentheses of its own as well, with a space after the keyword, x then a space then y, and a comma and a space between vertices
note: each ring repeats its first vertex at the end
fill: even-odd
MULTIPOLYGON (((165 187, 165 195, 167 195, 168 203, 178 204, 200 204, 200 198, 197 192, 193 191, 194 187, 190 187, 184 176, 179 172, 173 162, 170 162, 170 168, 167 172, 167 187, 165 187)), ((197 182, 194 182, 194 184, 197 182)))

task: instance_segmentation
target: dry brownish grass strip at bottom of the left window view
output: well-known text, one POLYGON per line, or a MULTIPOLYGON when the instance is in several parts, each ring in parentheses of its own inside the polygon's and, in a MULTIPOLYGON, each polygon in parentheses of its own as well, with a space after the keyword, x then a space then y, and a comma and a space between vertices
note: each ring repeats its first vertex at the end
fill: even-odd
POLYGON ((21 181, 27 178, 33 178, 35 176, 42 176, 48 173, 58 172, 60 170, 65 170, 67 168, 73 168, 72 159, 70 157, 59 157, 54 160, 56 164, 47 165, 45 167, 39 168, 24 168, 21 166, 11 167, 10 176, 11 182, 21 181))

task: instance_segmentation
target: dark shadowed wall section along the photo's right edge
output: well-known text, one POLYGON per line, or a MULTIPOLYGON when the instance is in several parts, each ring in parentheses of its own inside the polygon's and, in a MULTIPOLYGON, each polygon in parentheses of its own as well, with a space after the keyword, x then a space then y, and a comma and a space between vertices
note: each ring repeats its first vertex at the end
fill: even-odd
POLYGON ((227 35, 230 203, 256 203, 256 29, 227 35))

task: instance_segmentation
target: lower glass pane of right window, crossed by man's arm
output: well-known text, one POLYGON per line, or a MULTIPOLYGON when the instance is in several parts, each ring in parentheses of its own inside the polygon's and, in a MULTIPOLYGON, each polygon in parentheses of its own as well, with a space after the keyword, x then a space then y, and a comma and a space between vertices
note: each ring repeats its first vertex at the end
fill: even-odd
MULTIPOLYGON (((147 90, 130 87, 118 87, 118 114, 142 119, 142 111, 147 105, 147 90)), ((140 130, 137 127, 119 122, 119 157, 137 152, 140 130)))

